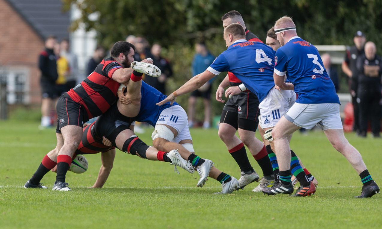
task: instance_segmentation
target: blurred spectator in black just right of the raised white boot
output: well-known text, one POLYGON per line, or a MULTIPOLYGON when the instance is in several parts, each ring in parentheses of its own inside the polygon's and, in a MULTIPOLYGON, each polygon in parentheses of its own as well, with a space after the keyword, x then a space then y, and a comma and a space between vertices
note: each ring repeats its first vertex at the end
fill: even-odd
POLYGON ((161 52, 162 47, 159 44, 152 45, 150 57, 152 58, 154 65, 156 65, 160 69, 160 71, 162 71, 162 74, 159 77, 152 77, 146 75, 144 81, 165 95, 165 83, 167 81, 167 78, 172 76, 172 69, 170 63, 168 63, 168 61, 165 58, 160 56, 161 52))

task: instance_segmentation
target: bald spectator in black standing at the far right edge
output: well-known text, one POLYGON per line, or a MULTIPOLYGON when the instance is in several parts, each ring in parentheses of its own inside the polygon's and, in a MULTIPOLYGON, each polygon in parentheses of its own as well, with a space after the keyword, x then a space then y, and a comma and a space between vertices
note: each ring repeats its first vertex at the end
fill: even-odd
POLYGON ((365 53, 356 64, 359 103, 359 136, 366 137, 367 121, 370 120, 373 137, 380 137, 381 117, 381 74, 382 58, 376 55, 376 45, 369 41, 365 45, 365 53))

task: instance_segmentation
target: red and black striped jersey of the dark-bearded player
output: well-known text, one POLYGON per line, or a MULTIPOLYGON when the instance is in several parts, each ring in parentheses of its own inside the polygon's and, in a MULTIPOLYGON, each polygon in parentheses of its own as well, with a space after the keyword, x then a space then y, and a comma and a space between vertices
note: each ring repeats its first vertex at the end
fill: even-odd
POLYGON ((86 110, 87 119, 99 116, 117 100, 120 83, 114 81, 112 76, 115 70, 120 68, 123 67, 112 57, 102 60, 94 72, 64 96, 81 104, 86 110))

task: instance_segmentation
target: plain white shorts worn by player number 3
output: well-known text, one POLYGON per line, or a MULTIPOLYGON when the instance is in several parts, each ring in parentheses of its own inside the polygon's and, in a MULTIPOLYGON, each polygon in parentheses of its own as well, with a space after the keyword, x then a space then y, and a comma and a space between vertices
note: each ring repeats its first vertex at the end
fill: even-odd
POLYGON ((312 129, 317 125, 322 130, 343 129, 338 103, 295 103, 284 115, 296 126, 312 129))

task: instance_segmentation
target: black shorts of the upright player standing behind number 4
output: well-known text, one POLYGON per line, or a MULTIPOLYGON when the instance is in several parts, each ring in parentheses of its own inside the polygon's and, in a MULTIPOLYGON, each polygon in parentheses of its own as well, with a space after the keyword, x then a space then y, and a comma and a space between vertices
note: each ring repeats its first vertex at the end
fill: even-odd
POLYGON ((236 129, 256 131, 259 124, 259 100, 252 92, 233 95, 225 103, 220 123, 227 123, 236 129))

